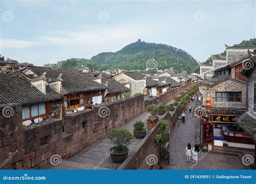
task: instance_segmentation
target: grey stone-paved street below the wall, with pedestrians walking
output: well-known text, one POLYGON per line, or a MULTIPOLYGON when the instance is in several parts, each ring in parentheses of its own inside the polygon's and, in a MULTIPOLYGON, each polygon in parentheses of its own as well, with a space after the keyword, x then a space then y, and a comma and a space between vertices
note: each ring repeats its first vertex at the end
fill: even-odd
MULTIPOLYGON (((190 104, 193 109, 195 102, 190 104)), ((198 164, 186 162, 187 143, 190 143, 192 147, 199 144, 200 119, 193 117, 192 112, 189 113, 188 109, 185 113, 185 123, 180 122, 178 128, 174 128, 170 134, 170 165, 166 165, 165 169, 245 169, 238 156, 202 151, 198 153, 198 164)))

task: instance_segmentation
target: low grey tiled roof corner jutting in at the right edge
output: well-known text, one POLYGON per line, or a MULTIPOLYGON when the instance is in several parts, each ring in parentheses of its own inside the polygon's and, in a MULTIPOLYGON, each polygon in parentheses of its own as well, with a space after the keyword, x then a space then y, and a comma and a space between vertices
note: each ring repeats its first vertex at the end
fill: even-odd
POLYGON ((256 140, 256 118, 253 118, 248 112, 245 112, 236 117, 234 121, 237 122, 242 130, 248 133, 248 135, 253 136, 254 140, 256 140))

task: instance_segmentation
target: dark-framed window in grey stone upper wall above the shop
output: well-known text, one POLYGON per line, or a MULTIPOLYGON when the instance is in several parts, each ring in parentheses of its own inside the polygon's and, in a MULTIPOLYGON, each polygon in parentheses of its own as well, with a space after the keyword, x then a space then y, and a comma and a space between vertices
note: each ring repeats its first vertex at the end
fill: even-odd
POLYGON ((216 92, 216 102, 241 102, 241 92, 216 92))

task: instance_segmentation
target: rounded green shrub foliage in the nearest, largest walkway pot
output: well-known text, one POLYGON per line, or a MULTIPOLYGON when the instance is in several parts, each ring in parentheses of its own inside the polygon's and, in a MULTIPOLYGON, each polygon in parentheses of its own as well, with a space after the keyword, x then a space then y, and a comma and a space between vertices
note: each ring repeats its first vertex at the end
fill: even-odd
POLYGON ((133 143, 133 135, 127 129, 112 129, 107 135, 110 140, 110 144, 115 147, 112 148, 114 153, 124 153, 128 150, 127 146, 133 143))

